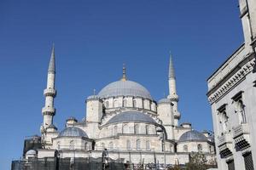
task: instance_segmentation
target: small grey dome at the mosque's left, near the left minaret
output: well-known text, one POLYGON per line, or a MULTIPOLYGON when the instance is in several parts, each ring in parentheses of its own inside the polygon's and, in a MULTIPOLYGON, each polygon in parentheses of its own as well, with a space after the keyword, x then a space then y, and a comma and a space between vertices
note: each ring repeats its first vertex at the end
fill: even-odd
POLYGON ((88 138, 87 134, 80 129, 79 127, 66 127, 64 130, 61 131, 59 137, 63 136, 72 136, 72 137, 85 137, 88 138))

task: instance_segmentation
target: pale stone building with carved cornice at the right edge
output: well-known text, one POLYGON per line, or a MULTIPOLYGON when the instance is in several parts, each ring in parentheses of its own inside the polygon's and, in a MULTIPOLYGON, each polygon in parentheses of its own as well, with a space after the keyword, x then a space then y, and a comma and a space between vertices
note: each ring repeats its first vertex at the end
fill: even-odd
POLYGON ((219 169, 255 169, 256 1, 240 0, 244 43, 208 78, 219 169))

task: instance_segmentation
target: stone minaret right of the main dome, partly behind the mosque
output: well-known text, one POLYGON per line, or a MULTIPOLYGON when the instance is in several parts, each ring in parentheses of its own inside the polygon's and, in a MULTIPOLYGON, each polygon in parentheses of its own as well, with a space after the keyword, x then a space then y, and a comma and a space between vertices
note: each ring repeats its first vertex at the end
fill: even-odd
POLYGON ((174 125, 177 126, 178 120, 180 119, 180 113, 177 111, 177 102, 178 102, 178 95, 176 90, 176 77, 175 71, 172 61, 172 54, 170 54, 170 62, 169 62, 169 95, 168 99, 171 99, 173 104, 173 112, 174 112, 174 125))

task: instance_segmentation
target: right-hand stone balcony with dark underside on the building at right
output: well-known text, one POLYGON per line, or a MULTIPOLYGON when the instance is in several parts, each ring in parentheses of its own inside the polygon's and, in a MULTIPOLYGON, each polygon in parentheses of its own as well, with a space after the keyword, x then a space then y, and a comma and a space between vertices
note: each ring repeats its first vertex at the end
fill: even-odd
POLYGON ((233 127, 233 139, 235 140, 236 150, 244 150, 250 146, 249 127, 247 123, 233 127))

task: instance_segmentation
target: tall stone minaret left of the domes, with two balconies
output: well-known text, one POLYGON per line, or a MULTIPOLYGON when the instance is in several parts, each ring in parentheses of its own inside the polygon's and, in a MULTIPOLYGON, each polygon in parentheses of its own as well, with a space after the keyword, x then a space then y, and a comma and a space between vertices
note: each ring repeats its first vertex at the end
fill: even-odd
POLYGON ((45 105, 42 109, 44 116, 44 129, 53 124, 53 116, 55 116, 54 99, 55 90, 55 47, 53 45, 49 60, 49 69, 47 76, 47 88, 44 89, 45 105))

